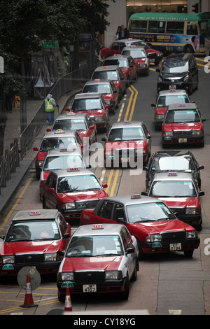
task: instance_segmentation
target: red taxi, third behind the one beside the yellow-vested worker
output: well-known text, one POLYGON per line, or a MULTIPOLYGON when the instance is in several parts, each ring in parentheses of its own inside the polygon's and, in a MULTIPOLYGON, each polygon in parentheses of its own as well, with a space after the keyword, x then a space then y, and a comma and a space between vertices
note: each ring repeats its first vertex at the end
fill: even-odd
POLYGON ((98 66, 94 69, 92 73, 92 77, 90 80, 95 79, 109 79, 113 81, 113 84, 116 86, 118 90, 118 97, 121 99, 123 94, 126 91, 126 79, 123 71, 120 69, 118 65, 110 65, 110 66, 98 66))

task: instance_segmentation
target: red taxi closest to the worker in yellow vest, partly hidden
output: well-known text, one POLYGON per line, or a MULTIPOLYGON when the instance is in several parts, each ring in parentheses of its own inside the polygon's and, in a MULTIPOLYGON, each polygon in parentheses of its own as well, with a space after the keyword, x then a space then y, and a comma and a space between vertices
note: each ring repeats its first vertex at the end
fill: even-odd
POLYGON ((84 138, 89 139, 91 145, 97 141, 96 124, 87 113, 67 112, 61 114, 55 119, 52 130, 76 130, 83 141, 84 138))

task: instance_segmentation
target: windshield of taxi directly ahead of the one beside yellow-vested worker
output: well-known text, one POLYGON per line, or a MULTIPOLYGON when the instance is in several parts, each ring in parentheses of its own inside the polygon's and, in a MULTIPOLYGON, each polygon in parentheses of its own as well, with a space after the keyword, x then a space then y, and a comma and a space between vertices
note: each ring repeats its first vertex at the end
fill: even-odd
POLYGON ((53 137, 44 138, 41 142, 40 152, 47 152, 49 150, 59 150, 61 148, 68 148, 68 150, 73 150, 78 148, 74 137, 53 137))

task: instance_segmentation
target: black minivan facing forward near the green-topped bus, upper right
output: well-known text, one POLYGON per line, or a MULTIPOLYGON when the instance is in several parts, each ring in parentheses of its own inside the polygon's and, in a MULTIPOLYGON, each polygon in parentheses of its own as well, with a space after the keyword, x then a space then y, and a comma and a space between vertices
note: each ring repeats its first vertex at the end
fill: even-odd
POLYGON ((169 55, 156 69, 158 75, 158 92, 167 89, 185 89, 188 94, 198 87, 198 68, 195 56, 188 54, 169 55))

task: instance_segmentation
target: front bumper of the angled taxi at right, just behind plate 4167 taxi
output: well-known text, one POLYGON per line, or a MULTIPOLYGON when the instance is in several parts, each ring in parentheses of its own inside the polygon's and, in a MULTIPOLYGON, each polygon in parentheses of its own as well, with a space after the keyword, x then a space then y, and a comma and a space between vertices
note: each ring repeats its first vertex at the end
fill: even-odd
POLYGON ((168 253, 170 251, 187 251, 197 249, 200 245, 200 239, 190 239, 190 241, 182 240, 182 241, 172 241, 172 245, 180 244, 181 248, 179 250, 171 250, 169 241, 160 241, 160 243, 146 243, 142 242, 141 248, 143 253, 151 254, 151 253, 168 253))

